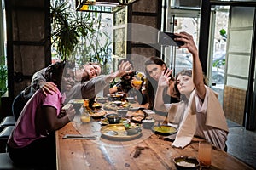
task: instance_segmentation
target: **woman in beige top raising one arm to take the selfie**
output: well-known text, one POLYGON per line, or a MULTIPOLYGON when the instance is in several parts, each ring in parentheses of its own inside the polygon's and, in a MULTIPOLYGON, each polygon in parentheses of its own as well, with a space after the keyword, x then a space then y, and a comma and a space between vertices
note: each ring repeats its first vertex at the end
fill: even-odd
POLYGON ((193 57, 193 70, 177 74, 177 89, 181 101, 177 104, 164 104, 162 92, 169 84, 171 71, 162 71, 154 106, 161 111, 168 111, 168 122, 177 124, 178 131, 173 147, 184 148, 194 136, 206 139, 221 150, 226 150, 229 133, 218 94, 207 87, 203 76, 201 62, 193 37, 186 32, 176 34, 177 41, 183 41, 180 48, 188 48, 193 57))

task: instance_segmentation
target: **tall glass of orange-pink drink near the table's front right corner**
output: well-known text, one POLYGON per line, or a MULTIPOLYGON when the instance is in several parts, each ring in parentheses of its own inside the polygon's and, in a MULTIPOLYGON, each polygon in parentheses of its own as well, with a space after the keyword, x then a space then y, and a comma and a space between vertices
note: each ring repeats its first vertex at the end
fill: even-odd
POLYGON ((201 167, 211 166, 212 144, 207 141, 199 142, 198 160, 201 167))

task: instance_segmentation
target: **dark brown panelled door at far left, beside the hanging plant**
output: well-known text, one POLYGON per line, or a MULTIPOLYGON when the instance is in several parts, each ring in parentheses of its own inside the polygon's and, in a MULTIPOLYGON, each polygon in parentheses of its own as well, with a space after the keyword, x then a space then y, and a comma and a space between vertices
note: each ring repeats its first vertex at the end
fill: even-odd
POLYGON ((5 1, 10 99, 30 84, 33 73, 51 62, 49 3, 5 1))

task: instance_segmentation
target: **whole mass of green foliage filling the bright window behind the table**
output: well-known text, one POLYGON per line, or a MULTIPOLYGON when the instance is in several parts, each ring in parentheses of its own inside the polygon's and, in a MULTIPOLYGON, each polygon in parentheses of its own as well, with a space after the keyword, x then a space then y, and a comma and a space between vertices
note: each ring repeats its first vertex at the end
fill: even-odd
POLYGON ((51 4, 52 44, 59 59, 73 59, 79 65, 97 62, 109 72, 112 44, 102 31, 102 14, 75 12, 67 2, 51 4), (102 41, 103 40, 103 41, 102 41))

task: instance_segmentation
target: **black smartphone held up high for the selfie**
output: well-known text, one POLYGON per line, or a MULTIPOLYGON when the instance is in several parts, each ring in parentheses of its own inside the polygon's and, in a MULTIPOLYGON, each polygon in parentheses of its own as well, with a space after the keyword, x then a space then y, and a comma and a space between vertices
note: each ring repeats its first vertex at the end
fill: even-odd
POLYGON ((183 41, 175 41, 174 38, 177 36, 174 35, 172 32, 162 32, 159 31, 158 34, 158 42, 160 45, 163 46, 183 46, 184 42, 183 41))

